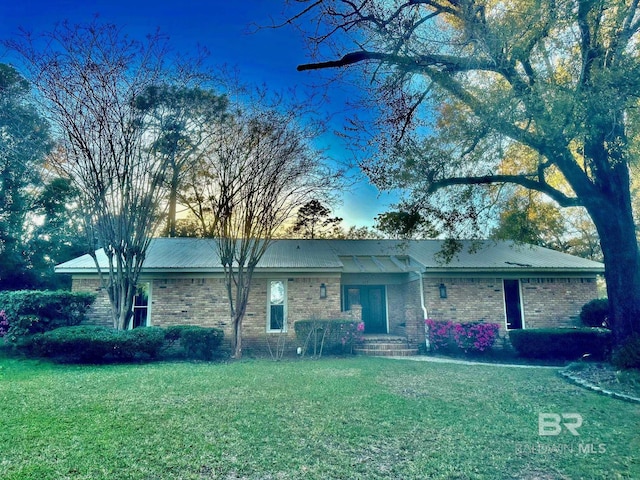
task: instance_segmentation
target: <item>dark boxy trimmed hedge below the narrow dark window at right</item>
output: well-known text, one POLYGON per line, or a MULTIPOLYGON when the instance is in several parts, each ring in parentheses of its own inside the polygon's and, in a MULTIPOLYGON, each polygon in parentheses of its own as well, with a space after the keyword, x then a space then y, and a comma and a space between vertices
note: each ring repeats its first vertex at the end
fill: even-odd
POLYGON ((604 328, 510 330, 509 340, 526 358, 576 360, 584 355, 603 360, 611 351, 611 331, 604 328))

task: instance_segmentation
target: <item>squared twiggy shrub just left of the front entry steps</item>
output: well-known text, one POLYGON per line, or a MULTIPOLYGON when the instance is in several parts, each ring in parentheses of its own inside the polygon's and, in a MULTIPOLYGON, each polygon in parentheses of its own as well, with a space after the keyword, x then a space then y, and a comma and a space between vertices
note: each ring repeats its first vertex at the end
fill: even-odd
POLYGON ((322 356, 323 352, 353 353, 355 345, 362 341, 364 323, 356 320, 298 320, 294 324, 303 354, 322 356))

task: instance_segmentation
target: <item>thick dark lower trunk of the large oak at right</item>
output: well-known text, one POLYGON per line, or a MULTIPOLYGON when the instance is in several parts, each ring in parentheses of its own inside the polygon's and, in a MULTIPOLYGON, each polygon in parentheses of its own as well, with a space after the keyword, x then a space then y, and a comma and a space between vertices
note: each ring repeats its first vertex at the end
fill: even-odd
POLYGON ((625 195, 614 195, 607 198, 604 207, 602 199, 587 203, 600 235, 611 328, 619 345, 634 332, 640 333, 640 251, 631 202, 625 195))

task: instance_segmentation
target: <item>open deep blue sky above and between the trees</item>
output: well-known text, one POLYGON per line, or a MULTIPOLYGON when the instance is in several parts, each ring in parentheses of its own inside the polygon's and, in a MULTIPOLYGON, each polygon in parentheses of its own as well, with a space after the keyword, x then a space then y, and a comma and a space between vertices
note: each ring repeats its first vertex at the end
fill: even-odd
MULTIPOLYGON (((142 39, 159 28, 177 52, 204 46, 210 51, 211 66, 236 68, 248 84, 264 84, 274 92, 304 90, 320 75, 296 71, 297 65, 309 61, 304 39, 289 27, 255 28, 271 25, 282 11, 282 0, 5 0, 0 2, 0 38, 11 38, 19 28, 34 34, 49 31, 63 20, 85 23, 97 14, 101 21, 118 25, 133 38, 142 39)), ((10 53, 0 50, 0 62, 12 63, 10 53)), ((341 90, 329 93, 324 108, 336 119, 330 130, 341 130, 341 112, 349 95, 341 90)), ((338 136, 330 134, 322 142, 337 160, 350 159, 338 136)), ((373 225, 375 215, 389 210, 396 199, 379 194, 364 178, 339 197, 341 202, 333 212, 344 218, 346 227, 373 225)))

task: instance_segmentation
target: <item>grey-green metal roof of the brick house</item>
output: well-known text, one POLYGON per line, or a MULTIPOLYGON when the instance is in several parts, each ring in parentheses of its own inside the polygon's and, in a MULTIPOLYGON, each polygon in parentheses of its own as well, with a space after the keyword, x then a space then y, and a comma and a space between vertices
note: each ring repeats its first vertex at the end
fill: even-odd
MULTIPOLYGON (((497 241, 463 241, 448 263, 441 259, 443 240, 277 240, 258 263, 262 270, 401 273, 465 271, 549 271, 602 273, 601 263, 547 248, 497 241)), ((107 266, 98 251, 101 266, 107 266)), ((58 273, 93 273, 89 255, 56 267, 58 273)), ((221 272, 213 239, 156 238, 143 271, 221 272)))

